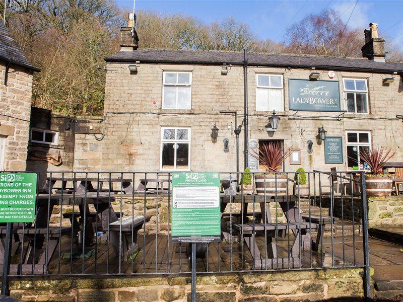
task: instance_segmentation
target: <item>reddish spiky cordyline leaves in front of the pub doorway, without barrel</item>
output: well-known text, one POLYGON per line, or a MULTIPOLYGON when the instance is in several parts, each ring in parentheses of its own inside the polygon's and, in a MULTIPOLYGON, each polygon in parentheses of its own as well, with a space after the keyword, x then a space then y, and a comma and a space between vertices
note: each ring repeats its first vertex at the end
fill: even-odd
POLYGON ((291 149, 283 153, 281 144, 277 141, 262 144, 257 151, 251 150, 250 155, 259 160, 260 165, 266 168, 267 172, 278 172, 276 168, 280 166, 291 154, 291 149))

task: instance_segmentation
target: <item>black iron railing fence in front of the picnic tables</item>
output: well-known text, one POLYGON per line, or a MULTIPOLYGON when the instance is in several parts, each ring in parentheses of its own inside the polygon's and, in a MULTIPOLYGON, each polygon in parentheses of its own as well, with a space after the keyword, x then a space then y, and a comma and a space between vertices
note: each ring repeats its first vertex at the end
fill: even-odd
MULTIPOLYGON (((189 245, 171 241, 172 173, 35 173, 35 221, 13 224, 8 276, 190 272, 189 245)), ((197 244, 197 273, 363 267, 369 288, 364 173, 220 178, 221 241, 197 244)))

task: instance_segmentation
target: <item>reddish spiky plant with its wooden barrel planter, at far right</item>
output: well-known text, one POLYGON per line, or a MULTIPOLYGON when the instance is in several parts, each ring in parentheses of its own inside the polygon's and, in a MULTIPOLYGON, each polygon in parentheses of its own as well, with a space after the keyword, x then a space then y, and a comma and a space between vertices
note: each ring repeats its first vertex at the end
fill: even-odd
POLYGON ((392 177, 383 173, 383 166, 394 156, 392 149, 363 149, 360 157, 368 165, 371 173, 366 174, 367 196, 390 196, 392 177))

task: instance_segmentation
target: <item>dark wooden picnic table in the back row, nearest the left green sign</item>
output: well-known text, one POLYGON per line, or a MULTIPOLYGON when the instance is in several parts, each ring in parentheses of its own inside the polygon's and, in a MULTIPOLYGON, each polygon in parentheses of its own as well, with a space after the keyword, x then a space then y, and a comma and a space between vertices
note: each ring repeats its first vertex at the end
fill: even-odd
MULTIPOLYGON (((43 186, 43 191, 44 192, 49 192, 53 189, 54 184, 60 181, 61 182, 61 189, 65 191, 66 193, 72 193, 73 191, 75 192, 85 192, 85 191, 102 191, 104 183, 107 183, 108 186, 108 191, 113 192, 113 183, 119 183, 121 184, 121 188, 123 193, 125 194, 131 194, 133 192, 133 186, 131 182, 133 181, 130 178, 108 178, 108 177, 46 177, 46 183, 43 186), (73 188, 69 190, 67 188, 67 182, 73 182, 73 188), (92 182, 96 182, 97 189, 95 189, 92 185, 92 182)), ((120 188, 120 185, 119 185, 120 188)), ((117 191, 120 191, 117 190, 117 191)))

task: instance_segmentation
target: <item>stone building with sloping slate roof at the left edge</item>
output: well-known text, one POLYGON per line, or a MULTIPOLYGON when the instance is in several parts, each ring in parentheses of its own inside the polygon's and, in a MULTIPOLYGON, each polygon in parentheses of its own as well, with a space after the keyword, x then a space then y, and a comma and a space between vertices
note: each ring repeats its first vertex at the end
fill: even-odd
POLYGON ((0 171, 25 171, 34 67, 0 24, 0 171))

